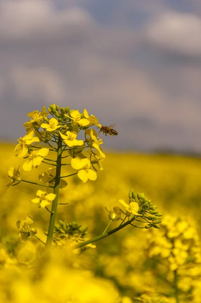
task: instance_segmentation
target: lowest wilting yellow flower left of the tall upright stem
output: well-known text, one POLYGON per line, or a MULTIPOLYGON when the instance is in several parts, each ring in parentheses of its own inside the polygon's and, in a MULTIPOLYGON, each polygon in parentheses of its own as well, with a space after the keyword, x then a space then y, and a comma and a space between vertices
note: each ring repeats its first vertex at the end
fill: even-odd
POLYGON ((32 235, 29 232, 32 232, 34 235, 37 233, 37 230, 31 227, 33 224, 32 219, 33 218, 31 216, 27 216, 25 220, 17 221, 17 228, 20 230, 20 233, 18 235, 18 240, 20 242, 26 242, 28 237, 32 235), (26 233, 23 233, 23 231, 26 231, 26 233))

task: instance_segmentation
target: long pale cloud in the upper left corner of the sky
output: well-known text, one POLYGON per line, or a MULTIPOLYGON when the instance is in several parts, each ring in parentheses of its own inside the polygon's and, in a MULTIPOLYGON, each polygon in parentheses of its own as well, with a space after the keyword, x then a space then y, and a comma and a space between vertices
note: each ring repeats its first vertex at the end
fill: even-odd
POLYGON ((84 9, 57 10, 48 0, 2 0, 0 11, 0 38, 3 40, 65 36, 69 27, 88 26, 92 22, 84 9))

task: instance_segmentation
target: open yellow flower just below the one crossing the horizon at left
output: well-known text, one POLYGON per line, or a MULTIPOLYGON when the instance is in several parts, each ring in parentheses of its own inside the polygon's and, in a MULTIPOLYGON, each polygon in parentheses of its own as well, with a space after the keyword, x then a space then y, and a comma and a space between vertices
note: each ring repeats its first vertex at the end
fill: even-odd
POLYGON ((29 155, 28 160, 23 164, 22 166, 23 170, 30 171, 32 170, 32 168, 40 165, 43 160, 42 157, 47 156, 48 153, 49 153, 49 149, 45 147, 38 150, 33 150, 29 155))

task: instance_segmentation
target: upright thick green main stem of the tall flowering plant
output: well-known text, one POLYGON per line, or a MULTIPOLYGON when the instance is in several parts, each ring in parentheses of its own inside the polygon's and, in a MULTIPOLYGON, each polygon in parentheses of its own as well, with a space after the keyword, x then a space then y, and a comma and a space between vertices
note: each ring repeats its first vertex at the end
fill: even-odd
POLYGON ((57 149, 57 170, 56 170, 56 176, 55 176, 55 186, 54 186, 54 193, 56 194, 55 199, 53 200, 52 204, 52 214, 49 219, 49 228, 47 233, 47 241, 46 241, 46 247, 47 250, 52 245, 53 240, 53 233, 54 233, 54 227, 55 227, 55 220, 57 215, 57 205, 58 205, 58 196, 59 196, 59 183, 60 183, 60 175, 61 175, 61 167, 62 167, 62 138, 59 136, 58 140, 58 149, 57 149))

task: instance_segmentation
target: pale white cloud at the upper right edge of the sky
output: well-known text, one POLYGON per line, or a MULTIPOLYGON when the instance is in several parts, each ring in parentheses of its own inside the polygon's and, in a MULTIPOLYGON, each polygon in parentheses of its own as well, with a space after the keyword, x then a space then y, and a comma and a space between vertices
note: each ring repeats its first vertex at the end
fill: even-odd
POLYGON ((201 18, 168 12, 146 27, 146 39, 165 51, 184 56, 201 54, 201 18))

